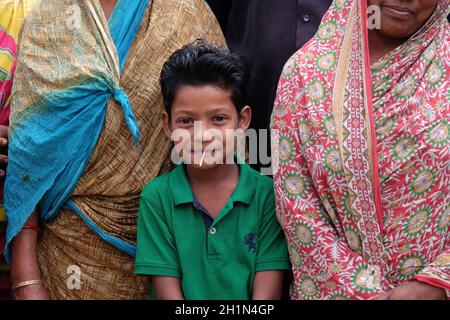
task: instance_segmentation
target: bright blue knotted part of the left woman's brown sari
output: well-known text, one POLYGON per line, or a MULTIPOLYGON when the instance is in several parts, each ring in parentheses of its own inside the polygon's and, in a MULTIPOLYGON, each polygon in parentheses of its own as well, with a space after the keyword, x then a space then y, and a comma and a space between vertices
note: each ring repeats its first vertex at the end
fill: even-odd
MULTIPOLYGON (((119 0, 116 4, 108 22, 109 36, 115 46, 115 52, 110 50, 109 53, 115 56, 118 65, 115 77, 112 72, 81 77, 78 83, 67 88, 42 93, 39 99, 34 99, 22 109, 19 109, 20 96, 16 98, 17 101, 13 98, 5 181, 5 211, 8 217, 5 257, 8 261, 11 258, 11 240, 22 230, 37 207, 43 221, 52 220, 62 207, 67 207, 78 213, 104 240, 134 255, 134 246, 102 232, 69 197, 83 175, 100 137, 106 120, 106 105, 111 97, 121 105, 134 143, 139 142, 138 123, 127 94, 118 86, 118 79, 149 1, 119 0), (19 109, 16 112, 14 104, 19 109)), ((86 6, 93 7, 92 2, 86 3, 86 6)), ((96 10, 98 13, 98 6, 96 10)), ((92 20, 102 29, 101 15, 92 20)), ((94 25, 94 22, 91 21, 91 24, 94 25)), ((96 31, 105 35, 105 30, 96 31)), ((70 45, 73 46, 73 54, 78 47, 76 44, 70 45)), ((19 55, 18 72, 21 68, 22 72, 31 69, 26 59, 19 55)), ((99 59, 102 62, 102 58, 99 59)), ((30 88, 34 89, 32 83, 30 88)))

